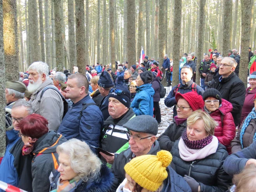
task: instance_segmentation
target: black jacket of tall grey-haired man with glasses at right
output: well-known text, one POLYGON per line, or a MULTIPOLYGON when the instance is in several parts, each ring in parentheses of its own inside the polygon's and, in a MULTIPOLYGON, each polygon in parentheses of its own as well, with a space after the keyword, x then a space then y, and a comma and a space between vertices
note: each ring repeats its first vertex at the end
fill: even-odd
POLYGON ((234 72, 221 81, 219 81, 219 76, 215 76, 215 74, 216 73, 214 73, 209 88, 217 89, 221 93, 222 99, 232 104, 233 110, 231 113, 234 118, 235 126, 237 126, 240 123, 242 106, 245 100, 246 88, 244 83, 234 72))

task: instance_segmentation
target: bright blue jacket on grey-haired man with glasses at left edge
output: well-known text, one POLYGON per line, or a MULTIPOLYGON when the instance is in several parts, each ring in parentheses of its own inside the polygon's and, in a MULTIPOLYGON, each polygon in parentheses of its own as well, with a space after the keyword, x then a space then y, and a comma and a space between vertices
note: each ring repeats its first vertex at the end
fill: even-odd
MULTIPOLYGON (((6 136, 9 139, 9 144, 7 145, 5 155, 3 157, 2 163, 0 164, 0 181, 13 185, 15 187, 19 184, 19 176, 14 166, 14 155, 10 153, 10 149, 12 149, 13 145, 21 139, 18 136, 19 131, 10 130, 6 132, 6 136)), ((0 189, 0 192, 4 192, 4 190, 0 189)))

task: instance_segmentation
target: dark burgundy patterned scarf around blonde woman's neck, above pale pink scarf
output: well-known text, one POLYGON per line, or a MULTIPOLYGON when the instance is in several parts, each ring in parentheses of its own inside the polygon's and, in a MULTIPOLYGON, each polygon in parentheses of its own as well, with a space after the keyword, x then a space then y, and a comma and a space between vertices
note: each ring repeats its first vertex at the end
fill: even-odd
POLYGON ((190 141, 189 138, 187 137, 187 129, 185 129, 182 133, 182 139, 185 145, 189 147, 189 149, 202 149, 206 145, 211 143, 211 141, 213 140, 213 136, 208 135, 206 138, 203 138, 201 140, 190 141))

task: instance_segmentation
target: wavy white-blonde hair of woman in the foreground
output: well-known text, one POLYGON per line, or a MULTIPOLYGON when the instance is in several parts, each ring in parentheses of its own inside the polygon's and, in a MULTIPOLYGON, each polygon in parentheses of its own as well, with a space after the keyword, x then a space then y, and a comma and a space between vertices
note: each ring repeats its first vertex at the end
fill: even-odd
POLYGON ((71 168, 78 173, 74 177, 76 181, 82 179, 86 182, 99 175, 102 163, 85 142, 73 138, 59 145, 56 150, 58 154, 69 156, 71 168))

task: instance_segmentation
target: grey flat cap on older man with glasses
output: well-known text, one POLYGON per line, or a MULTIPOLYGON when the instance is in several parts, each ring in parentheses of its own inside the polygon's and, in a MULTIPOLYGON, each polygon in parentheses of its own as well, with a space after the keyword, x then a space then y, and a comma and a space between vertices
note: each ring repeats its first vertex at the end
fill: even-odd
POLYGON ((158 123, 156 119, 150 115, 136 116, 125 123, 123 127, 140 133, 150 133, 152 135, 157 135, 158 133, 158 123))

